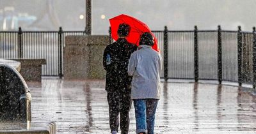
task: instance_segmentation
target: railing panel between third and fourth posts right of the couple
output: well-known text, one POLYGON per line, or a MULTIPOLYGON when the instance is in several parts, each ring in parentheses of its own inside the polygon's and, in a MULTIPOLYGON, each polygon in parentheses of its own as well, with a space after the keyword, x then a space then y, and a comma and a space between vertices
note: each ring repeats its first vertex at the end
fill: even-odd
POLYGON ((222 78, 238 81, 237 67, 237 32, 221 31, 222 43, 222 78))

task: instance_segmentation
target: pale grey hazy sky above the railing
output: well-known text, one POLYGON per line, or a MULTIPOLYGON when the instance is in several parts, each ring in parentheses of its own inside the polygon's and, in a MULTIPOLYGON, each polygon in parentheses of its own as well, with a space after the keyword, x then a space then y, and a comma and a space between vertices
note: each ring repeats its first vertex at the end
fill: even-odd
MULTIPOLYGON (((0 17, 6 6, 36 20, 23 29, 83 31, 85 0, 0 0, 0 17), (36 7, 36 8, 35 8, 36 7), (2 10, 2 13, 1 13, 2 10), (83 18, 83 19, 82 19, 83 18)), ((252 31, 256 26, 255 0, 92 0, 92 34, 108 34, 109 19, 127 14, 152 30, 222 29, 252 31)), ((0 22, 1 24, 1 22, 0 22)))

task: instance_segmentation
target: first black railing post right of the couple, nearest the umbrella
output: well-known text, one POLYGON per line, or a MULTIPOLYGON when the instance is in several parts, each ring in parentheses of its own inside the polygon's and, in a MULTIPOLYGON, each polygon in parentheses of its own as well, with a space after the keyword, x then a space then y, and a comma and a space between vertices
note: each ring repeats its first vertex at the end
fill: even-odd
POLYGON ((168 29, 164 26, 164 81, 168 80, 168 29))

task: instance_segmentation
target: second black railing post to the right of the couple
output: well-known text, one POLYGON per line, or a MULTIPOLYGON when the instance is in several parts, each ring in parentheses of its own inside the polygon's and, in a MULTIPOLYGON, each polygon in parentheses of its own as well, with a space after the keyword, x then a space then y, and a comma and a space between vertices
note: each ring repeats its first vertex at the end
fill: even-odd
POLYGON ((195 82, 198 82, 198 30, 197 26, 195 26, 194 30, 194 62, 195 62, 195 82))

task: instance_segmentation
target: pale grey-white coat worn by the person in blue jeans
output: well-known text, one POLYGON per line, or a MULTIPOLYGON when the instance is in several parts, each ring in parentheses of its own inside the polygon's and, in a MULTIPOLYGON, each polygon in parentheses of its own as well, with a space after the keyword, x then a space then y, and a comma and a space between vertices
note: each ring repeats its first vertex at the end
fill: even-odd
POLYGON ((140 47, 132 53, 128 64, 128 74, 132 76, 131 99, 159 100, 162 57, 148 45, 140 47))

